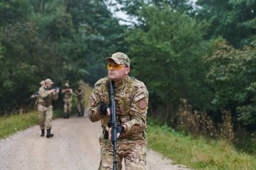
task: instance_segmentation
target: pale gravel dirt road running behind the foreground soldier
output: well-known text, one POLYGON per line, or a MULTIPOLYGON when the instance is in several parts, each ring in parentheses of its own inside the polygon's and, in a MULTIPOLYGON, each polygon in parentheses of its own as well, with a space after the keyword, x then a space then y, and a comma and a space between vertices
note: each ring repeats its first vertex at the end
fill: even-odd
MULTIPOLYGON (((86 117, 57 119, 53 120, 53 138, 40 137, 39 126, 33 126, 0 140, 0 169, 96 170, 100 161, 98 137, 102 132, 99 123, 86 117)), ((185 169, 170 163, 148 151, 148 170, 185 169)))

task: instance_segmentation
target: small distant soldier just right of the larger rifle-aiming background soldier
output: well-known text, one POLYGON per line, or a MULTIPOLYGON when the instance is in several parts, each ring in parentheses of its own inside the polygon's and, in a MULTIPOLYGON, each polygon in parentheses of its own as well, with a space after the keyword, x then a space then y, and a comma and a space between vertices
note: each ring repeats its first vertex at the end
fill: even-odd
POLYGON ((72 95, 73 95, 73 90, 69 88, 69 83, 65 83, 65 89, 61 90, 61 93, 64 93, 64 118, 69 119, 69 115, 71 113, 71 108, 72 108, 72 95))

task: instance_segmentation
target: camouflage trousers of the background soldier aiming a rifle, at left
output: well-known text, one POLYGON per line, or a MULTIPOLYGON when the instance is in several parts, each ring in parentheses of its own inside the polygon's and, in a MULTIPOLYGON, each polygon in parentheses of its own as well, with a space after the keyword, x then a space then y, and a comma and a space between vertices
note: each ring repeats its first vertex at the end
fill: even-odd
POLYGON ((51 122, 53 118, 53 105, 46 107, 38 104, 38 118, 40 129, 52 128, 51 122))

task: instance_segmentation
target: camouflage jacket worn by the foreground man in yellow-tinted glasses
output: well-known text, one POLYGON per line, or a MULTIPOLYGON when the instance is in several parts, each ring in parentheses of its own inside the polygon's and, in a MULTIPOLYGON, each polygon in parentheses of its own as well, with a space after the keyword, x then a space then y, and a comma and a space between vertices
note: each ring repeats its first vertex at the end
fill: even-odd
MULTIPOLYGON (((110 116, 102 116, 99 108, 102 103, 109 103, 108 77, 97 81, 90 96, 89 118, 92 122, 101 120, 102 128, 107 128, 110 116)), ((148 110, 148 90, 144 83, 127 76, 114 87, 117 124, 125 124, 127 130, 121 138, 143 136, 146 138, 146 114, 148 110)))

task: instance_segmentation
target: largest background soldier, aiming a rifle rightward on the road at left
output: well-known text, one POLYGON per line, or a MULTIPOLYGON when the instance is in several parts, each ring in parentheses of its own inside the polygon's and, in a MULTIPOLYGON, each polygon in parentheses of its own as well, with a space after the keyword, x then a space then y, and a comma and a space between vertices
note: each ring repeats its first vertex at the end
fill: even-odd
POLYGON ((46 138, 53 137, 51 133, 51 121, 53 117, 52 100, 58 99, 59 89, 51 89, 53 81, 51 79, 45 80, 45 87, 40 87, 38 93, 38 118, 40 129, 42 130, 41 136, 44 136, 44 128, 46 127, 46 138))

